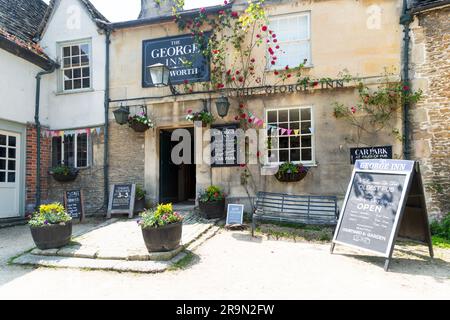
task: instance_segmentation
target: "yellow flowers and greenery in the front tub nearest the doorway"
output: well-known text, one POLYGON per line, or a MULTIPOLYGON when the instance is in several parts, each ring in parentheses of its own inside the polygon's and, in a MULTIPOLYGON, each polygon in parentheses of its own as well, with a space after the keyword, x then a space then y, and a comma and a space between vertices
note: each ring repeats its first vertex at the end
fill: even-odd
POLYGON ((174 212, 172 204, 168 203, 158 205, 154 211, 144 211, 138 224, 142 228, 158 228, 182 221, 183 217, 178 212, 174 212))

